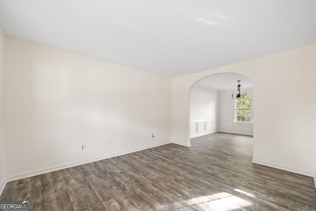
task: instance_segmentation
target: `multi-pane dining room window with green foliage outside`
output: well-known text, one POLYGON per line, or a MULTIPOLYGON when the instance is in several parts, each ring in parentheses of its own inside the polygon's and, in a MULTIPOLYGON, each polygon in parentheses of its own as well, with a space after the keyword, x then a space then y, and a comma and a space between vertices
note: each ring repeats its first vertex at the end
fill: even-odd
POLYGON ((243 99, 236 99, 235 114, 237 123, 252 123, 251 95, 246 95, 243 99))

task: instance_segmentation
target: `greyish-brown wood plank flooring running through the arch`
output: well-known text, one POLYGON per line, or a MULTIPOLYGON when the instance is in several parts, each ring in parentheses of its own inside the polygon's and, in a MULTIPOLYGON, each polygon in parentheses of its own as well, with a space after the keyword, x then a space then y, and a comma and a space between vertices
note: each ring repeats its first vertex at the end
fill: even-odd
POLYGON ((34 211, 316 211, 312 177, 252 164, 252 136, 213 133, 8 182, 34 211))

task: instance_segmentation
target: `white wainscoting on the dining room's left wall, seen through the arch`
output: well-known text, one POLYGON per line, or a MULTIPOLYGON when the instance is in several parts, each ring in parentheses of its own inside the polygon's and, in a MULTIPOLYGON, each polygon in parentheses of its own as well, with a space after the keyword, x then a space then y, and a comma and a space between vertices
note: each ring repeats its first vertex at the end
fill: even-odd
POLYGON ((190 137, 218 132, 218 119, 194 119, 190 123, 190 137))

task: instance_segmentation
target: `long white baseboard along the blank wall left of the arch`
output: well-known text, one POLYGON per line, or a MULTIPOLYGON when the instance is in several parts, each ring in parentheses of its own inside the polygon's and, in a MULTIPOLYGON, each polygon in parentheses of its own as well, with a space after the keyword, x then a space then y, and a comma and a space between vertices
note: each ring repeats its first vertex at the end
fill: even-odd
POLYGON ((25 173, 19 173, 19 174, 15 174, 15 175, 9 175, 9 176, 6 177, 6 181, 9 182, 9 181, 17 180, 17 179, 23 179, 23 178, 27 178, 27 177, 30 177, 30 176, 36 176, 36 175, 39 175, 39 174, 52 172, 52 171, 55 171, 55 170, 67 169, 67 168, 70 168, 70 167, 75 167, 75 166, 79 166, 79 165, 83 165, 83 164, 92 163, 92 162, 95 162, 95 161, 100 161, 100 160, 104 160, 104 159, 108 159, 108 158, 113 158, 113 157, 117 157, 117 156, 120 156, 120 155, 126 155, 126 154, 129 154, 129 153, 133 153, 133 152, 137 152, 137 151, 141 151, 141 150, 145 150, 145 149, 149 149, 149 148, 153 148, 153 147, 158 147, 158 146, 165 145, 165 144, 170 144, 170 143, 171 143, 171 141, 167 141, 167 142, 162 142, 162 143, 153 144, 153 145, 149 145, 149 146, 145 146, 145 147, 135 148, 135 149, 131 149, 131 150, 123 151, 123 152, 118 152, 118 153, 114 153, 114 154, 110 154, 110 155, 104 155, 104 156, 101 156, 101 157, 86 159, 86 160, 82 160, 82 161, 78 161, 78 162, 68 163, 68 164, 59 165, 59 166, 53 166, 53 167, 49 167, 49 168, 45 168, 45 169, 39 169, 39 170, 34 170, 34 171, 29 171, 29 172, 25 172, 25 173))

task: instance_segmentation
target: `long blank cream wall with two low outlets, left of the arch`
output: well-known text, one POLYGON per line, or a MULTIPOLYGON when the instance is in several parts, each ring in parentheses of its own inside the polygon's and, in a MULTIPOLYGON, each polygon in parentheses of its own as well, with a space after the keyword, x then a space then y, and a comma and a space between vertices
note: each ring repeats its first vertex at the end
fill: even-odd
POLYGON ((171 142, 171 79, 10 37, 5 52, 8 180, 171 142))

